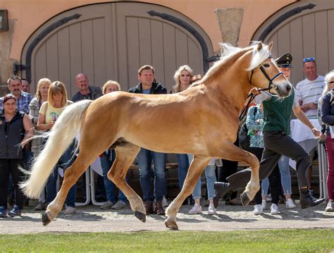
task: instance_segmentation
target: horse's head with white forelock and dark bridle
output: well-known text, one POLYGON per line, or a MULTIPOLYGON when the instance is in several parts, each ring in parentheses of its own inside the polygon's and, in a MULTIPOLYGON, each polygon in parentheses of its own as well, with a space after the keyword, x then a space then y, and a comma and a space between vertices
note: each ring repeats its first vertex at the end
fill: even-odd
POLYGON ((249 68, 249 82, 261 90, 268 90, 278 97, 287 97, 292 91, 292 85, 283 73, 278 70, 275 60, 271 57, 273 42, 266 46, 256 42, 253 46, 252 61, 249 68))

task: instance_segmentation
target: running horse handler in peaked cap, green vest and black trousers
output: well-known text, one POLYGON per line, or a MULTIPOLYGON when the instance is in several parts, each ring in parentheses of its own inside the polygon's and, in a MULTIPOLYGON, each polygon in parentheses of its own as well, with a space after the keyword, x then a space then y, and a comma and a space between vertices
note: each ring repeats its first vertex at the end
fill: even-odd
MULTIPOLYGON (((286 70, 285 77, 290 76, 290 68, 292 56, 290 54, 284 54, 276 59, 280 69, 286 70)), ((283 70, 283 71, 284 71, 283 70)), ((290 115, 291 111, 295 113, 295 116, 299 118, 302 123, 307 125, 315 136, 319 136, 320 132, 314 128, 307 116, 305 116, 302 109, 299 107, 295 90, 292 90, 292 94, 285 99, 278 99, 278 97, 272 96, 268 92, 259 92, 258 88, 251 90, 252 94, 256 94, 256 102, 263 102, 264 106, 264 152, 262 154, 259 178, 263 180, 268 177, 275 168, 281 155, 288 156, 297 162, 297 179, 299 185, 299 200, 302 209, 316 206, 325 201, 325 199, 316 199, 309 195, 309 189, 307 187, 307 168, 311 163, 309 154, 300 147, 300 145, 292 140, 290 135, 290 115)), ((230 175, 227 180, 228 183, 216 182, 214 205, 218 206, 219 200, 226 193, 230 191, 240 190, 246 187, 251 176, 250 168, 246 168, 242 171, 230 175)), ((252 199, 246 194, 241 196, 242 204, 247 205, 252 199)))

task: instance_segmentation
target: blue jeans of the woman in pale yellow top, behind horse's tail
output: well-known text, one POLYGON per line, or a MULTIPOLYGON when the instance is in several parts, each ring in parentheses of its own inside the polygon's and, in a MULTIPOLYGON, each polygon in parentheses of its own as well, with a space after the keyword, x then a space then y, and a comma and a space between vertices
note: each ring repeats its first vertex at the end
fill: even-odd
MULTIPOLYGON (((66 168, 70 167, 75 160, 75 156, 73 155, 73 144, 68 147, 66 152, 61 156, 61 159, 59 159, 56 166, 54 166, 54 171, 49 176, 49 179, 47 181, 47 197, 46 202, 47 204, 51 203, 57 195, 57 189, 56 189, 56 183, 58 179, 58 167, 63 168, 66 170, 66 168)), ((66 197, 66 205, 75 207, 75 199, 76 199, 76 190, 77 186, 73 185, 73 187, 70 188, 68 195, 66 197)))

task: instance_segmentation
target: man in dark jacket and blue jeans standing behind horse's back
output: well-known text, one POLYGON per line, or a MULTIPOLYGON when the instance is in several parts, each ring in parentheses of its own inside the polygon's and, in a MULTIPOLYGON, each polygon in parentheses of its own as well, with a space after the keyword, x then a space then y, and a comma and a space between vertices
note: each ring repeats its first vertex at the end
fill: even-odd
MULTIPOLYGON (((167 94, 167 89, 154 78, 154 68, 144 65, 138 70, 137 86, 130 88, 129 92, 142 94, 167 94)), ((154 129, 152 129, 154 131, 154 129)), ((164 215, 162 206, 163 196, 166 195, 166 154, 153 152, 148 149, 140 149, 137 155, 140 168, 140 185, 145 203, 146 214, 154 214, 153 202, 156 200, 155 212, 164 215), (151 161, 154 162, 154 171, 151 169, 151 161), (151 189, 151 175, 154 173, 154 192, 151 189)))

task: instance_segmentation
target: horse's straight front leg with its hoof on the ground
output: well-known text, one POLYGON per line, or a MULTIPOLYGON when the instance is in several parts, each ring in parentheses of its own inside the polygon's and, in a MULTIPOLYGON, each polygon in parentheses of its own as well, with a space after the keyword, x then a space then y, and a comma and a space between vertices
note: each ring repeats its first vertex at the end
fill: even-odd
POLYGON ((185 183, 183 183, 181 192, 178 194, 178 197, 176 197, 173 202, 171 202, 166 210, 166 215, 168 218, 165 221, 165 225, 167 228, 175 230, 178 229, 178 225, 176 224, 176 214, 178 214, 178 210, 185 201, 185 198, 192 194, 198 178, 204 171, 204 168, 208 165, 210 159, 211 158, 207 156, 194 156, 194 159, 192 160, 192 163, 188 169, 187 177, 185 178, 185 183))

